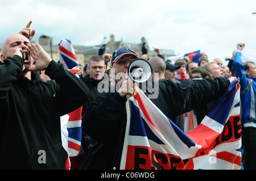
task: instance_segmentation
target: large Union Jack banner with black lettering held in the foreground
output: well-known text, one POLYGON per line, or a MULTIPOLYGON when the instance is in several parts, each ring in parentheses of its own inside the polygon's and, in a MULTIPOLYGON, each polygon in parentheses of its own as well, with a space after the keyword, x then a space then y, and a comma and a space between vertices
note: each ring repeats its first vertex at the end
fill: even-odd
POLYGON ((201 124, 181 131, 138 87, 126 102, 120 169, 240 169, 240 85, 233 81, 201 124))

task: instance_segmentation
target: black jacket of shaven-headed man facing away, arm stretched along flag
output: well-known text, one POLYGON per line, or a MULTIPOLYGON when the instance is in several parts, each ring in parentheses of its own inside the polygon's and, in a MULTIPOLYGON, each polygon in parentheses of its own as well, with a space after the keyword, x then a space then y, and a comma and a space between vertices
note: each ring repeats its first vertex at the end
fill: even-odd
MULTIPOLYGON (((229 81, 224 81, 222 78, 221 79, 217 78, 215 79, 215 81, 210 81, 210 82, 207 82, 207 79, 205 81, 203 80, 202 84, 196 84, 197 89, 195 89, 193 85, 193 81, 191 79, 189 79, 189 81, 186 81, 186 82, 181 81, 180 82, 181 85, 174 84, 172 83, 172 81, 168 79, 160 79, 158 83, 159 83, 158 98, 150 99, 150 100, 156 105, 156 107, 158 107, 164 113, 164 115, 166 115, 175 124, 176 124, 176 117, 178 115, 181 115, 182 113, 185 113, 186 110, 191 111, 199 107, 202 108, 203 107, 202 105, 205 105, 206 103, 209 103, 209 102, 210 102, 209 104, 211 105, 213 104, 213 102, 215 103, 216 102, 215 100, 220 98, 220 96, 224 93, 223 89, 226 90, 225 87, 229 85, 227 84, 229 83, 229 81), (207 84, 210 83, 209 86, 213 87, 213 89, 206 90, 208 88, 206 87, 207 86, 206 83, 207 84), (218 86, 218 85, 222 85, 223 83, 226 83, 224 87, 218 86), (179 89, 181 89, 181 91, 177 91, 179 89), (186 90, 191 91, 191 94, 190 93, 187 94, 186 90), (183 99, 181 99, 181 97, 183 97, 183 99)), ((152 87, 154 87, 154 84, 152 87)), ((147 92, 147 94, 149 93, 147 92)), ((211 106, 210 108, 213 108, 213 106, 211 106)), ((204 116, 206 114, 207 112, 205 112, 204 116)))

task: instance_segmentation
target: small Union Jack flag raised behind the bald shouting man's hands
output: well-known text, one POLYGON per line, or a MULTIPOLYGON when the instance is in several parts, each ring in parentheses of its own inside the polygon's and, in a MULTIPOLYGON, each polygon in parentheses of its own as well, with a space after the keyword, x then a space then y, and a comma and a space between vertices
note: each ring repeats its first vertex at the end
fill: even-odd
POLYGON ((67 39, 61 39, 59 43, 58 54, 60 63, 64 64, 65 69, 72 69, 73 67, 79 65, 71 41, 67 39))

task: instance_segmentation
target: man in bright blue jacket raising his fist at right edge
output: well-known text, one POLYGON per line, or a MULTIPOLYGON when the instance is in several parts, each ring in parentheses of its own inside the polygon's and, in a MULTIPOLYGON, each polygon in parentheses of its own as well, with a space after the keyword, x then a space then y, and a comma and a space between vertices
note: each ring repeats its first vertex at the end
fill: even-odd
POLYGON ((236 77, 240 77, 241 85, 241 124, 242 124, 242 168, 256 169, 256 65, 254 62, 241 60, 245 44, 237 44, 237 52, 233 66, 236 77))

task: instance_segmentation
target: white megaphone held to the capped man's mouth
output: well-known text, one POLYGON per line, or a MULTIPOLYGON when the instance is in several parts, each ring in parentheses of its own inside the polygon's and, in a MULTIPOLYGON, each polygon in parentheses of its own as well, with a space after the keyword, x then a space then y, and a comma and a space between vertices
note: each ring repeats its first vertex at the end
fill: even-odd
POLYGON ((146 82, 152 75, 152 67, 148 61, 136 58, 130 62, 127 74, 133 82, 146 82))

